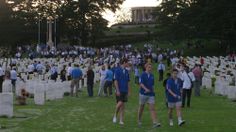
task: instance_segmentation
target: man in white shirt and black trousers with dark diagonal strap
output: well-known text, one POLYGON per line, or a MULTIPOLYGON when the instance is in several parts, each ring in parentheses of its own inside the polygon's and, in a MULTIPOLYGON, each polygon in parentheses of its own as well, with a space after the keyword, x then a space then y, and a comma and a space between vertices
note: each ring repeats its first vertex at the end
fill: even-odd
POLYGON ((191 94, 193 82, 195 81, 195 77, 193 73, 189 72, 189 67, 185 66, 185 68, 181 71, 181 80, 183 81, 183 95, 182 95, 182 107, 185 107, 185 100, 187 98, 187 107, 190 107, 191 94))

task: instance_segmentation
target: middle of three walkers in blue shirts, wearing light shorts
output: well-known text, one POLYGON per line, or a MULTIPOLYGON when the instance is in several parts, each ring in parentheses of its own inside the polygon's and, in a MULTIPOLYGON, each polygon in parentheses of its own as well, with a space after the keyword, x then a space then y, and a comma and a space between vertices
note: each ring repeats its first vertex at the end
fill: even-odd
POLYGON ((140 77, 139 91, 139 109, 138 109, 138 125, 141 126, 141 118, 145 104, 149 104, 153 128, 160 127, 161 124, 157 121, 155 110, 155 92, 154 92, 154 76, 152 74, 152 65, 146 64, 145 71, 140 77))

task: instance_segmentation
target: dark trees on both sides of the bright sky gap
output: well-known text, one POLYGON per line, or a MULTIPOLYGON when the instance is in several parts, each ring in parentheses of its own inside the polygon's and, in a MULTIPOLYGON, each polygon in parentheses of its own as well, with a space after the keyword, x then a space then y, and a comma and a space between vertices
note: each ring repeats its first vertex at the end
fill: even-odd
MULTIPOLYGON (((37 42, 38 22, 57 20, 58 38, 96 46, 105 37, 108 21, 102 13, 115 12, 124 0, 4 0, 0 1, 1 45, 37 42)), ((156 37, 165 40, 217 39, 236 42, 235 0, 162 0, 153 13, 156 37)), ((46 26, 42 39, 46 40, 46 26), (44 37, 43 37, 44 36, 44 37)))

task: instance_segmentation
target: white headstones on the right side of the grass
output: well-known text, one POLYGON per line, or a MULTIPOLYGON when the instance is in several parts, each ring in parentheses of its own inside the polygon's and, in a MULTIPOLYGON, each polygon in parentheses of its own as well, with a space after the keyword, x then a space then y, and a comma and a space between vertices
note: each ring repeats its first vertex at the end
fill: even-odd
MULTIPOLYGON (((194 66, 200 58, 188 57, 188 64, 194 66)), ((227 96, 228 99, 236 100, 236 86, 231 84, 236 82, 236 62, 228 61, 226 57, 205 57, 203 69, 205 70, 202 78, 202 88, 213 90, 216 95, 227 96), (220 65, 218 62, 220 60, 220 65), (228 67, 227 67, 228 65, 228 67), (217 75, 216 75, 217 71, 217 75), (228 74, 231 73, 231 75, 228 74), (215 87, 212 87, 212 79, 215 78, 215 87)))

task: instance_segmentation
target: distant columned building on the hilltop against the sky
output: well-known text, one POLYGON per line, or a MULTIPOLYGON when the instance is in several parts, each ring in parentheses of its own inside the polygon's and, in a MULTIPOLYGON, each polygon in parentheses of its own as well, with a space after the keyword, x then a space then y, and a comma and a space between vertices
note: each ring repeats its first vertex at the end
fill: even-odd
POLYGON ((147 23, 154 22, 152 13, 155 7, 133 7, 132 11, 132 22, 133 23, 147 23))

